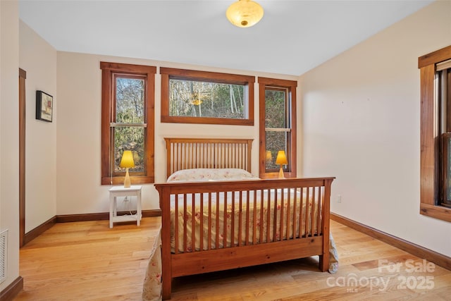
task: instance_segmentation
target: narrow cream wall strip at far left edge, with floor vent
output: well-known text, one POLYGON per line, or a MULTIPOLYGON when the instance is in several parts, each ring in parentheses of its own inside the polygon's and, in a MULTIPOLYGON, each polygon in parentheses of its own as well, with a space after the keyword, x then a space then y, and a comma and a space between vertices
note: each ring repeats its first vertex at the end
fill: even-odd
POLYGON ((19 276, 18 1, 0 1, 0 231, 8 230, 7 277, 19 276))

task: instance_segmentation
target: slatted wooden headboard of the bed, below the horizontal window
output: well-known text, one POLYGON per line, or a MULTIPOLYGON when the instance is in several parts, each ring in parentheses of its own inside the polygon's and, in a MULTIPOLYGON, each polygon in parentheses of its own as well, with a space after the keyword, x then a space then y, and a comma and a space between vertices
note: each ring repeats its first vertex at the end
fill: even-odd
POLYGON ((253 139, 164 138, 166 178, 180 169, 242 168, 251 172, 253 139))

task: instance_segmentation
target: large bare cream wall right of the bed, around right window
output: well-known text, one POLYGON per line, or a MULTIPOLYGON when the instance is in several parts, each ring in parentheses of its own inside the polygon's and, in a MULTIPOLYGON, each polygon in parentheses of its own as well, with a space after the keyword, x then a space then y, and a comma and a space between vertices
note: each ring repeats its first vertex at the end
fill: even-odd
POLYGON ((336 177, 331 210, 447 256, 451 223, 419 214, 418 57, 450 44, 451 1, 437 1, 299 83, 303 174, 336 177))

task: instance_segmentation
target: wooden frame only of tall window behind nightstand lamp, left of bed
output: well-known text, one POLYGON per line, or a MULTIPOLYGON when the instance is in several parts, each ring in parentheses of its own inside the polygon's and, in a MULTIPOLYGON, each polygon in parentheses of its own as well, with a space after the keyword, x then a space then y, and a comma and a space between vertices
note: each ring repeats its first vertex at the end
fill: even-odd
POLYGON ((100 62, 101 68, 101 184, 119 185, 124 183, 124 176, 113 176, 111 170, 111 112, 113 103, 113 78, 115 74, 141 75, 146 82, 146 123, 147 130, 144 137, 146 148, 145 173, 130 173, 133 184, 154 183, 154 98, 156 67, 132 65, 126 63, 100 62))

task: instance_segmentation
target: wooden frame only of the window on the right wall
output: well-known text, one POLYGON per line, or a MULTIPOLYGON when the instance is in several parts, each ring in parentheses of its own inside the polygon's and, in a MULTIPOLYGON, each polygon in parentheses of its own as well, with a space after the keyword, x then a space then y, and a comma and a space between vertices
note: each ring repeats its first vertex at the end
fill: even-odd
POLYGON ((451 59, 451 46, 418 58, 420 69, 420 214, 443 221, 451 221, 451 209, 435 202, 440 189, 435 155, 438 152, 440 135, 435 121, 435 64, 451 59))

